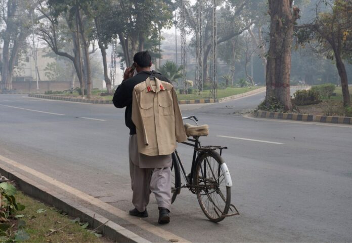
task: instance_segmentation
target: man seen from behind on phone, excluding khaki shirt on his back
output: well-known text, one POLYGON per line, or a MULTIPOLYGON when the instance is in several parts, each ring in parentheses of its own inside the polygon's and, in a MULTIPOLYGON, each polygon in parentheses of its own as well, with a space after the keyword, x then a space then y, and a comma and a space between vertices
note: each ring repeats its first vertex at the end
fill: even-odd
POLYGON ((132 121, 132 99, 134 87, 146 81, 153 75, 159 80, 169 82, 160 73, 151 71, 151 56, 148 51, 135 54, 134 66, 137 75, 133 77, 133 69, 127 68, 122 83, 117 87, 112 99, 117 108, 126 107, 125 124, 129 128, 129 172, 133 190, 132 203, 135 208, 129 211, 130 215, 148 217, 147 205, 150 192, 155 194, 159 207, 159 223, 170 221, 171 205, 171 155, 148 156, 138 152, 136 126, 132 121))

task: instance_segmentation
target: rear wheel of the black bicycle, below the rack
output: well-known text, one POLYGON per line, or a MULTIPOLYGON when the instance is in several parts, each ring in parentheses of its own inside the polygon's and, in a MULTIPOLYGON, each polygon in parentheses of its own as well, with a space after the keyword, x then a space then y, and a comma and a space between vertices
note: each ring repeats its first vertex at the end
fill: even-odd
POLYGON ((193 184, 204 188, 196 187, 199 205, 212 222, 224 220, 231 205, 231 187, 226 186, 225 174, 221 169, 223 163, 223 158, 216 151, 203 152, 193 174, 193 184))

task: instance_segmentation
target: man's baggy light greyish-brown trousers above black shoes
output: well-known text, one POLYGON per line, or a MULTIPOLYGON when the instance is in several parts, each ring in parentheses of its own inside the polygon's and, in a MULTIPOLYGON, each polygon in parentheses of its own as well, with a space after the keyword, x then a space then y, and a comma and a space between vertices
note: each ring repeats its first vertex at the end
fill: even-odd
POLYGON ((171 168, 140 168, 138 165, 141 157, 136 156, 138 153, 137 144, 134 146, 133 141, 131 143, 131 138, 128 150, 133 205, 138 211, 143 212, 149 203, 150 193, 153 192, 158 207, 170 210, 171 168))

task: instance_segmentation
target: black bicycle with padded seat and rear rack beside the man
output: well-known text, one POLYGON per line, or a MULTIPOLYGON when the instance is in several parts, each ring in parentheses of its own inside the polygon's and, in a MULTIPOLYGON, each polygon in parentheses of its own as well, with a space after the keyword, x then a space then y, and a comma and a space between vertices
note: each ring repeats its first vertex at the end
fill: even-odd
POLYGON ((198 126, 198 119, 194 115, 182 119, 190 119, 197 125, 191 126, 192 129, 188 128, 190 137, 187 142, 183 142, 194 147, 193 159, 191 173, 187 175, 178 151, 172 153, 171 203, 175 201, 182 188, 188 188, 197 195, 199 205, 210 221, 220 222, 226 217, 239 215, 236 207, 231 204, 231 175, 221 157, 223 149, 227 147, 201 146, 199 138, 208 135, 206 129, 204 132, 206 125, 198 126), (216 150, 219 150, 219 153, 216 150), (181 172, 186 181, 184 185, 181 185, 181 172))

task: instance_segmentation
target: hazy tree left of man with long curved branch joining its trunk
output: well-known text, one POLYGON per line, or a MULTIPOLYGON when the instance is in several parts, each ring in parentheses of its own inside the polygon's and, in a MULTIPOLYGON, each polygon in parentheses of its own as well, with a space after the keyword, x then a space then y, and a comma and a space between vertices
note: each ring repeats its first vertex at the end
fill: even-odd
POLYGON ((39 35, 60 56, 70 59, 75 67, 82 95, 86 84, 87 98, 92 96, 92 75, 89 57, 93 20, 84 15, 89 0, 48 0, 49 9, 41 6, 40 12, 47 24, 39 28, 39 35), (46 13, 48 12, 48 13, 46 13), (67 37, 69 35, 70 37, 67 37), (72 52, 64 51, 65 44, 73 46, 72 52), (81 53, 83 50, 83 55, 81 53))

